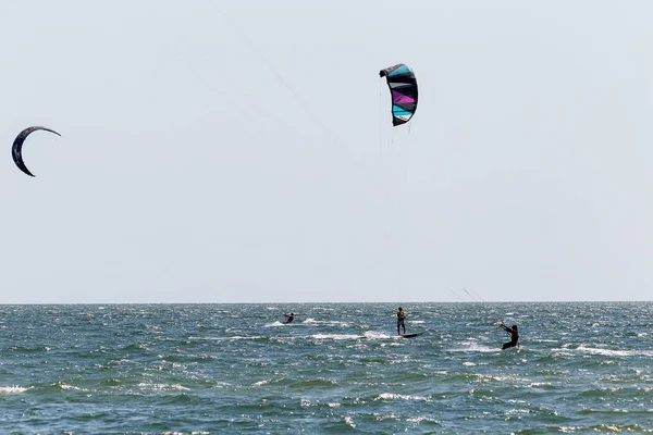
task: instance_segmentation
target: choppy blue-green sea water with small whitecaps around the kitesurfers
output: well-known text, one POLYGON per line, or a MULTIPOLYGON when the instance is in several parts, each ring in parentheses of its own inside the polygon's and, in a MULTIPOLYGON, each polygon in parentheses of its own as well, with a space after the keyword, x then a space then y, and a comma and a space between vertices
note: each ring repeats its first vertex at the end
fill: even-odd
POLYGON ((403 307, 0 306, 0 433, 653 432, 653 303, 403 307))

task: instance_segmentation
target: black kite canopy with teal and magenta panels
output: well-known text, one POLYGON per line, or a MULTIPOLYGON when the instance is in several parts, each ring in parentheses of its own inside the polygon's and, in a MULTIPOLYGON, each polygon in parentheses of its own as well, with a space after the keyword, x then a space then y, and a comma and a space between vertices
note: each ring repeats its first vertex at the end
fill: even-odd
POLYGON ((406 124, 417 110, 417 80, 408 65, 403 63, 379 72, 386 77, 392 94, 392 125, 406 124))

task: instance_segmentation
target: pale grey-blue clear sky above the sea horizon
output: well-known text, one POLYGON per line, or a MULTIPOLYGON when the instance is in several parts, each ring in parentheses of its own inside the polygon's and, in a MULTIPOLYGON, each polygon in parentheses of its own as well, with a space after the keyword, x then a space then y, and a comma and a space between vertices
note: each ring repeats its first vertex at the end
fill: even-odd
POLYGON ((651 16, 5 0, 0 303, 651 300, 651 16))

